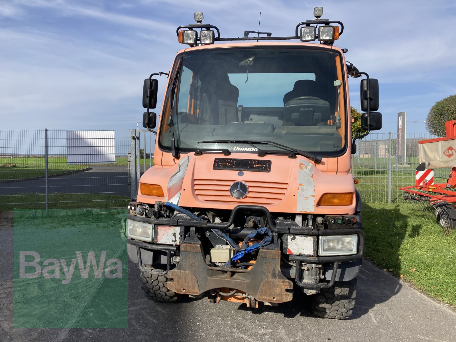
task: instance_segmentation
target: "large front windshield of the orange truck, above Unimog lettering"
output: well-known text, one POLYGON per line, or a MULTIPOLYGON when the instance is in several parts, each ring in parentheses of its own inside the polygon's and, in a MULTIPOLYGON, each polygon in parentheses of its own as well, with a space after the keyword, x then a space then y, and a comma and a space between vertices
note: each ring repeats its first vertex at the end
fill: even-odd
MULTIPOLYGON (((163 149, 171 148, 171 126, 176 148, 184 153, 213 148, 254 152, 240 140, 272 141, 325 155, 344 149, 345 96, 337 52, 237 47, 197 50, 181 58, 175 93, 168 93, 162 115, 163 149)), ((274 144, 267 149, 283 150, 274 144)))

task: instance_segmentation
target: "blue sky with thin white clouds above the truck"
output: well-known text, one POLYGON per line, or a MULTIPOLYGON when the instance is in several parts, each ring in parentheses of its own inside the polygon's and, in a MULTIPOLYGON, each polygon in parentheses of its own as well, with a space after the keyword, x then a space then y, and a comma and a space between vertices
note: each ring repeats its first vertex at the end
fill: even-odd
POLYGON ((193 12, 232 37, 256 31, 261 11, 260 31, 291 36, 315 6, 344 23, 347 61, 378 78, 380 132, 407 111, 408 133, 424 133, 432 105, 456 94, 454 1, 0 0, 0 130, 136 128, 143 80, 168 72, 193 12))

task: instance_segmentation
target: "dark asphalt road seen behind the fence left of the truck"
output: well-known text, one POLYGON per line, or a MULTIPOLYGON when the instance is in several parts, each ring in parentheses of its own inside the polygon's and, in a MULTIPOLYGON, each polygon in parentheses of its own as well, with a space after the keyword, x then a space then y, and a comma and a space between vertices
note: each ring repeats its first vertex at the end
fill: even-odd
MULTIPOLYGON (((92 170, 48 179, 49 193, 109 193, 130 197, 128 166, 91 166, 92 170)), ((144 166, 141 168, 141 174, 144 166)), ((0 182, 0 195, 45 193, 46 180, 0 182)))

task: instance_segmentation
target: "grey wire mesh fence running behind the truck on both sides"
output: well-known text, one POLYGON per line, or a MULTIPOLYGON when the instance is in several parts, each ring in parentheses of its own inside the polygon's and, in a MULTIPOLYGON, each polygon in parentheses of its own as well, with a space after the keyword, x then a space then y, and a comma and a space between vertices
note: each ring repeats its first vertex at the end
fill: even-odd
MULTIPOLYGON (((415 184, 418 141, 429 138, 408 134, 405 159, 398 158, 396 134, 371 133, 358 140, 352 174, 359 180, 363 201, 391 203, 402 198, 398 188, 415 184)), ((84 141, 90 145, 96 139, 84 141)), ((0 131, 0 211, 123 207, 136 197, 141 174, 154 165, 154 146, 155 135, 147 130, 0 131), (86 137, 98 132, 99 146, 80 149, 80 156, 92 155, 89 161, 78 160, 78 152, 74 153, 70 141, 74 132, 86 137), (87 149, 98 147, 101 150, 88 153, 87 149), (106 153, 109 161, 100 157, 106 153)), ((435 169, 435 182, 445 182, 449 173, 449 168, 435 169)))

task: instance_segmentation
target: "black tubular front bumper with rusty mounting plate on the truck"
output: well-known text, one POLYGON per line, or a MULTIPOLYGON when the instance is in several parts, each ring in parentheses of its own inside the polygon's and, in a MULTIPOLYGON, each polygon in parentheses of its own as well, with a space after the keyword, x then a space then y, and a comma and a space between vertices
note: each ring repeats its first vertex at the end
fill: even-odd
MULTIPOLYGON (((170 280, 168 288, 176 293, 188 295, 200 295, 208 290, 216 288, 234 288, 252 295, 259 301, 270 303, 281 303, 292 299, 293 282, 305 289, 319 290, 331 287, 336 280, 351 280, 359 273, 361 259, 364 254, 365 238, 360 228, 332 228, 315 229, 298 226, 284 226, 275 222, 269 211, 259 206, 238 206, 233 209, 227 223, 207 223, 193 221, 191 219, 151 219, 129 215, 129 219, 157 225, 172 225, 192 228, 193 238, 188 236, 182 244, 170 246, 163 244, 144 243, 128 239, 130 245, 129 256, 133 255, 142 269, 141 252, 161 251, 163 264, 166 263, 164 273, 168 273, 170 280), (195 231, 209 231, 218 228, 230 231, 233 218, 238 210, 248 208, 249 211, 257 209, 266 214, 268 227, 275 233, 275 243, 265 246, 259 250, 255 266, 250 270, 233 269, 228 267, 212 267, 207 265, 199 239, 194 238, 195 231), (348 235, 358 234, 358 252, 353 255, 344 256, 301 256, 290 255, 290 260, 295 261, 298 267, 295 270, 285 271, 281 269, 281 249, 278 237, 281 234, 296 234, 308 236, 321 235, 348 235), (134 249, 134 250, 133 250, 134 249), (171 269, 172 255, 179 255, 180 261, 175 269, 171 269), (306 281, 301 266, 303 264, 314 264, 316 267, 323 267, 323 276, 326 279, 306 281), (318 266, 317 266, 318 265, 318 266), (292 271, 292 272, 291 272, 292 271), (288 279, 287 279, 288 278, 288 279), (328 283, 329 281, 329 283, 328 283)), ((150 264, 145 262, 144 264, 150 264)), ((284 265, 282 265, 283 267, 284 265)), ((290 266, 288 266, 290 268, 290 266)), ((294 268, 294 267, 293 267, 294 268)))

